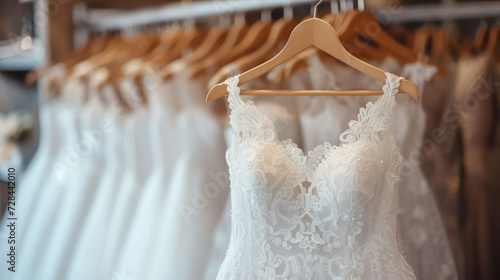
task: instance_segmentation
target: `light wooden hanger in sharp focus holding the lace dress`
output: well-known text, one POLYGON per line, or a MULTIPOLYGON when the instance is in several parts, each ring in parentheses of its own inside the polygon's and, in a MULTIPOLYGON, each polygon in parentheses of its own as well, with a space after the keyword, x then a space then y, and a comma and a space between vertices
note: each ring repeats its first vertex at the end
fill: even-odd
MULTIPOLYGON (((351 67, 371 76, 381 82, 386 82, 385 72, 373 65, 370 65, 350 54, 340 43, 337 32, 326 21, 312 18, 301 22, 290 35, 290 39, 283 50, 265 63, 246 71, 239 75, 239 86, 256 79, 274 67, 282 64, 300 52, 315 46, 320 50, 336 57, 338 60, 351 67)), ((418 91, 410 81, 403 79, 400 82, 400 90, 408 93, 418 100, 418 91)), ((206 101, 210 102, 224 95, 227 95, 227 85, 218 84, 214 86, 207 95, 206 101)), ((382 90, 358 90, 358 91, 268 91, 268 90, 242 90, 243 95, 381 95, 382 90)))

